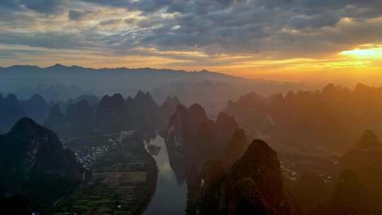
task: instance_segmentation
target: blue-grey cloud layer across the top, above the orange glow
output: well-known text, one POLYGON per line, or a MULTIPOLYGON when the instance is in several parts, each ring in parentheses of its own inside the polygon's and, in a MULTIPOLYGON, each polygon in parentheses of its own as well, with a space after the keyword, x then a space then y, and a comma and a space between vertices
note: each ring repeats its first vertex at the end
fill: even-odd
POLYGON ((382 42, 381 17, 378 0, 2 0, 0 44, 209 65, 221 55, 325 58, 382 42))

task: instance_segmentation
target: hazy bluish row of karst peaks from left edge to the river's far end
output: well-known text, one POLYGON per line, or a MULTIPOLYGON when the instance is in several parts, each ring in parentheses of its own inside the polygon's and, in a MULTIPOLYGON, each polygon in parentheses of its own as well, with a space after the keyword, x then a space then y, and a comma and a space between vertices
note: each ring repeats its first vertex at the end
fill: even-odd
POLYGON ((30 117, 63 135, 133 129, 149 135, 167 123, 179 104, 176 96, 168 96, 162 105, 158 105, 149 92, 142 91, 126 100, 117 93, 104 95, 102 99, 95 95, 81 95, 50 104, 39 94, 27 100, 18 100, 13 94, 5 97, 0 94, 0 134, 8 132, 21 117, 30 117))

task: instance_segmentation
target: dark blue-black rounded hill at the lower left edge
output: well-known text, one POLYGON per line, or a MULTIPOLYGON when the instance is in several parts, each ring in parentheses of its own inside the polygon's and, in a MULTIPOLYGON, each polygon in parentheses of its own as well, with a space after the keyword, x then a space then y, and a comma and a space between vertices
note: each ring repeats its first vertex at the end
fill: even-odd
POLYGON ((0 136, 0 170, 1 202, 16 197, 40 211, 76 187, 83 168, 54 132, 22 118, 0 136))

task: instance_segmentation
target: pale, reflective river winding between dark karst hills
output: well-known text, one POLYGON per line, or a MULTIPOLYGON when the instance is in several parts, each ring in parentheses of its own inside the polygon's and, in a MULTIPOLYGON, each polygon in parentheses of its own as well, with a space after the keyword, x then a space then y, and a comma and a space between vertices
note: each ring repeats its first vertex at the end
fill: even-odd
POLYGON ((164 139, 157 135, 150 144, 160 146, 158 155, 153 155, 158 165, 158 181, 156 192, 151 199, 149 206, 144 212, 145 215, 182 215, 185 214, 187 202, 187 185, 185 182, 178 182, 174 171, 171 169, 168 158, 168 150, 164 139))

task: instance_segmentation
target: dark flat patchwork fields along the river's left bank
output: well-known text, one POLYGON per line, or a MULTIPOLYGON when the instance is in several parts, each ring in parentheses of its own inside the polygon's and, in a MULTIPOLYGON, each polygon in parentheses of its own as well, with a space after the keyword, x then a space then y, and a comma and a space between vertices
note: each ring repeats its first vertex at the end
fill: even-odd
POLYGON ((138 138, 105 153, 91 168, 86 185, 64 197, 56 214, 141 214, 154 193, 157 168, 138 138))

